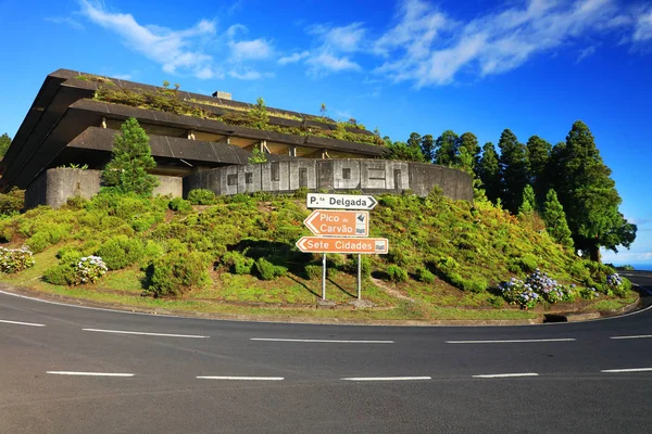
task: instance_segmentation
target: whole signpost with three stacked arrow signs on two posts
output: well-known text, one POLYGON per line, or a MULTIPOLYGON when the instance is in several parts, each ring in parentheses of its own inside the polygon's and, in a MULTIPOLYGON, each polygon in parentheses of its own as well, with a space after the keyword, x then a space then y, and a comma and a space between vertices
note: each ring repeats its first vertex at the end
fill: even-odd
POLYGON ((358 254, 358 299, 362 299, 362 255, 384 255, 389 251, 386 238, 369 235, 369 213, 378 205, 365 194, 308 193, 305 205, 315 209, 303 220, 312 233, 302 237, 297 247, 304 253, 322 253, 322 299, 326 299, 326 254, 358 254), (338 209, 338 210, 329 210, 338 209))

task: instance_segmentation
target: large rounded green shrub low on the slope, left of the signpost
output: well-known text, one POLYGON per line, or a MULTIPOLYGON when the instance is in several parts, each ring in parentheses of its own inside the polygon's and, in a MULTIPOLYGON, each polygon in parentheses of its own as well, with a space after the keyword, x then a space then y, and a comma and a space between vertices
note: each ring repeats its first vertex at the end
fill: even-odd
POLYGON ((199 252, 172 252, 155 259, 151 266, 148 291, 155 296, 178 295, 210 282, 210 258, 199 252))

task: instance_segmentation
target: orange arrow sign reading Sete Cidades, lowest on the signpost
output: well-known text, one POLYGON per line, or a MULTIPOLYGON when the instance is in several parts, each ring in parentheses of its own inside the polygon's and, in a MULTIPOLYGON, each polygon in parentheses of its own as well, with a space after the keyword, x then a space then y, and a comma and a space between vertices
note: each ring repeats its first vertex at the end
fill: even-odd
POLYGON ((384 255, 389 250, 386 238, 303 237, 297 247, 304 253, 362 253, 384 255))

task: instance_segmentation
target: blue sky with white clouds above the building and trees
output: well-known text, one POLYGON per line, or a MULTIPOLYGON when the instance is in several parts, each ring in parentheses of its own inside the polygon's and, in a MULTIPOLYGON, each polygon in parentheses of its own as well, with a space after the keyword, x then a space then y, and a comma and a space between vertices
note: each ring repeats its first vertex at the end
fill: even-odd
POLYGON ((652 265, 652 1, 0 0, 0 133, 58 68, 498 142, 591 128, 652 265))

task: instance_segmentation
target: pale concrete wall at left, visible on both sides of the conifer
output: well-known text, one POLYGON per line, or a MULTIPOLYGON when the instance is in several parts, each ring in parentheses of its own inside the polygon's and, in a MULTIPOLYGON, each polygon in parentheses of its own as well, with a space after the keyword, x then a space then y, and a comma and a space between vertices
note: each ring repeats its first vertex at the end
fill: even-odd
MULTIPOLYGON (((59 208, 72 196, 90 199, 100 191, 101 174, 100 170, 89 169, 48 169, 25 191, 25 207, 29 209, 38 205, 48 205, 59 208)), ((156 178, 159 187, 154 189, 154 195, 181 196, 184 183, 180 177, 156 176, 156 178)))

